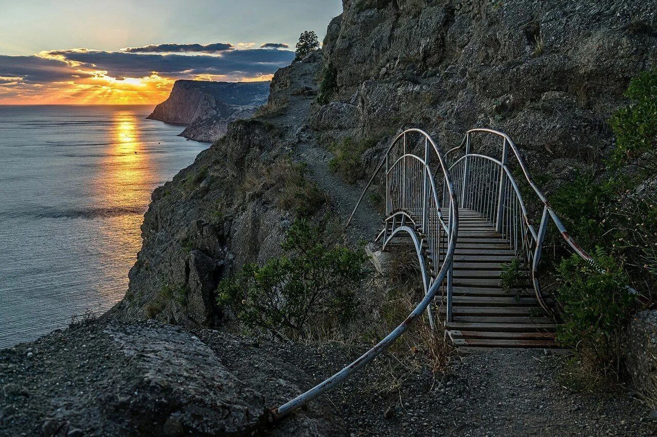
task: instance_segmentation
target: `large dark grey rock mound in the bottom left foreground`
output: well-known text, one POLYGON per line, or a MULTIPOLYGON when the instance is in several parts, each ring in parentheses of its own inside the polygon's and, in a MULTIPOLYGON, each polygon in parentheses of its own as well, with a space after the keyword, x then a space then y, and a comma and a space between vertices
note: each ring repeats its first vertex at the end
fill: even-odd
MULTIPOLYGON (((240 337, 204 331, 201 340, 154 321, 80 322, 0 351, 0 434, 261 435, 271 403, 280 402, 275 396, 309 383, 302 369, 249 350, 240 337), (268 367, 254 371, 263 363, 268 367), (248 378, 241 366, 250 369, 248 378), (269 372, 281 368, 290 376, 279 378, 272 394, 269 372)), ((325 408, 273 435, 344 435, 325 408)))

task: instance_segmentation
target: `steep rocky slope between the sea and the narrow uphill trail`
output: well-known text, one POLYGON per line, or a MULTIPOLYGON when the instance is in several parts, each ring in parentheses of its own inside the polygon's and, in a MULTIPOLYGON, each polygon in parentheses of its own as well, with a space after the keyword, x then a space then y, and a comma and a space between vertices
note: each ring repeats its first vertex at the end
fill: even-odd
POLYGON ((321 56, 315 53, 279 70, 270 102, 287 102, 289 110, 231 123, 221 140, 154 190, 129 289, 110 317, 216 325, 217 282, 247 262, 280 253, 294 212, 281 210, 277 201, 281 190, 289 188, 287 169, 279 168, 279 162, 288 156, 314 99, 292 93, 312 83, 320 69, 321 56))

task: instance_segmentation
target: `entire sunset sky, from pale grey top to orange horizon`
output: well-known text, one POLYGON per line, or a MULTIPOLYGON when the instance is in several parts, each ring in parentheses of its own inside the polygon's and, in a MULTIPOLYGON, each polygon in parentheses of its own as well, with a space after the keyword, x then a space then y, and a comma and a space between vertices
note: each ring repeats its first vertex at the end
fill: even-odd
POLYGON ((0 0, 0 104, 156 104, 175 79, 267 80, 340 0, 0 0))

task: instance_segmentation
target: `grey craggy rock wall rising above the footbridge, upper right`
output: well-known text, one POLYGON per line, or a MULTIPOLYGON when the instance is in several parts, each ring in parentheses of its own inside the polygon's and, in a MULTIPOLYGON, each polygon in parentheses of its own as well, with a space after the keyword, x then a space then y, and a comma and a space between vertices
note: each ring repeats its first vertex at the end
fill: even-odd
POLYGON ((323 46, 340 98, 314 125, 346 118, 365 135, 421 127, 445 149, 491 127, 558 177, 599 159, 629 78, 657 63, 655 6, 345 0, 323 46))

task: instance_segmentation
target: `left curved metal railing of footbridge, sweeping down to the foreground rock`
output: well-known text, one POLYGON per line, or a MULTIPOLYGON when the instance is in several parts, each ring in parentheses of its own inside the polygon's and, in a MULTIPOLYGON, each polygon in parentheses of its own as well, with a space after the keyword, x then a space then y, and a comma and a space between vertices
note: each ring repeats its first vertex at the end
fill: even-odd
MULTIPOLYGON (((406 159, 406 158, 405 158, 406 159)), ((399 165, 399 162, 405 163, 406 161, 399 161, 396 160, 397 165, 399 165)), ((384 339, 379 341, 373 348, 365 352, 362 356, 360 356, 357 360, 352 362, 351 364, 347 365, 344 367, 344 369, 338 371, 332 377, 326 379, 322 383, 316 385, 315 387, 311 388, 310 390, 307 390, 307 392, 300 394, 296 398, 290 400, 289 402, 286 402, 280 407, 277 407, 272 410, 273 416, 275 418, 280 418, 283 417, 284 415, 289 414, 291 411, 294 411, 295 409, 298 409, 301 406, 304 406, 307 404, 307 402, 317 398, 317 396, 320 396, 327 390, 330 390, 330 388, 338 385, 345 379, 347 379, 350 375, 358 371, 361 367, 369 363, 371 360, 373 360, 378 354, 386 350, 390 344, 394 343, 396 339, 398 339, 413 323, 417 318, 419 318, 420 314, 430 308, 430 303, 433 301, 434 297, 436 296, 436 293, 438 292, 438 289, 443 284, 443 281, 447 280, 447 287, 448 287, 448 293, 447 293, 447 318, 451 317, 451 270, 452 270, 452 260, 454 257, 454 251, 456 248, 456 240, 457 240, 457 235, 459 232, 459 210, 457 207, 457 199, 454 193, 454 188, 453 184, 451 182, 451 178, 449 176, 449 171, 447 169, 447 165, 445 162, 445 159, 442 155, 442 152, 440 152, 440 149, 438 146, 436 146, 436 143, 434 140, 424 131, 421 131, 420 129, 407 129, 406 131, 403 131, 403 133, 400 133, 394 140, 392 141, 392 144, 390 145, 390 148, 386 151, 386 154, 384 158, 382 159, 381 163, 376 167, 376 170, 374 171, 373 176, 370 178, 369 182, 367 183, 367 186, 365 186, 365 190, 363 190, 363 194, 361 194, 361 197, 359 198, 355 208, 353 209, 353 212, 351 213, 349 220, 347 224, 351 222, 351 219, 353 218, 353 215, 357 211, 359 205, 361 204, 361 201, 363 200, 363 197, 365 196, 365 193, 371 185, 373 184, 373 181, 377 177, 378 173, 380 170, 386 165, 386 217, 389 217, 390 220, 392 220, 392 229, 390 230, 390 235, 384 236, 384 247, 388 243, 390 243, 390 240, 392 238, 395 238, 397 234, 400 232, 404 232, 405 234, 408 234, 412 241, 413 245, 415 245, 416 253, 418 255, 418 259, 420 260, 420 265, 422 266, 422 276, 423 276, 423 281, 424 281, 424 286, 425 286, 425 294, 424 298, 422 301, 417 304, 417 306, 413 309, 411 314, 403 322, 401 322, 391 333, 386 335, 384 339), (420 135, 424 136, 424 159, 421 159, 420 157, 414 156, 413 158, 410 159, 415 159, 419 158, 419 161, 421 161, 422 164, 422 169, 423 169, 423 193, 422 196, 419 197, 422 199, 422 202, 424 205, 422 205, 422 231, 424 233, 419 233, 418 230, 413 226, 411 228, 410 226, 407 226, 405 224, 405 220, 401 218, 401 223, 399 226, 396 226, 396 217, 400 216, 403 217, 403 213, 393 213, 392 215, 390 214, 391 211, 388 211, 388 207, 390 206, 390 169, 397 168, 396 165, 393 165, 392 167, 389 167, 388 160, 390 156, 390 152, 394 149, 394 147, 397 145, 397 142, 399 141, 400 138, 403 138, 403 155, 407 156, 406 153, 406 136, 411 134, 411 133, 419 133, 420 135), (440 170, 443 173, 443 190, 447 193, 447 197, 449 198, 449 219, 447 221, 447 224, 445 224, 444 220, 442 219, 442 213, 440 211, 440 202, 438 201, 438 193, 436 191, 436 184, 433 179, 433 176, 431 175, 432 171, 430 171, 428 161, 429 161, 429 144, 432 146, 436 156, 438 157, 438 162, 440 163, 440 170), (445 253, 443 254, 443 263, 442 266, 440 267, 440 271, 436 274, 436 278, 433 281, 430 281, 428 278, 427 274, 427 266, 424 264, 426 262, 426 251, 427 251, 427 245, 426 240, 429 237, 430 230, 428 229, 428 222, 427 222, 427 208, 426 208, 426 203, 428 203, 427 199, 429 198, 428 196, 428 191, 432 190, 432 200, 434 201, 434 204, 436 205, 436 218, 440 217, 440 221, 442 222, 441 226, 436 226, 436 232, 440 235, 440 232, 445 232, 445 228, 443 228, 444 225, 447 226, 447 232, 445 232, 445 237, 447 238, 447 247, 445 248, 445 253)), ((403 173, 405 175, 405 173, 403 173)), ((417 193, 415 193, 417 194, 417 193)), ((416 196, 415 199, 418 197, 416 196)), ((384 227, 384 234, 387 234, 388 230, 388 220, 386 220, 386 224, 384 227)), ((429 249, 430 250, 430 249, 429 249)), ((436 260, 438 260, 438 257, 435 257, 436 260)), ((432 322, 432 319, 430 319, 432 322)), ((430 323, 431 323, 430 322, 430 323)))

